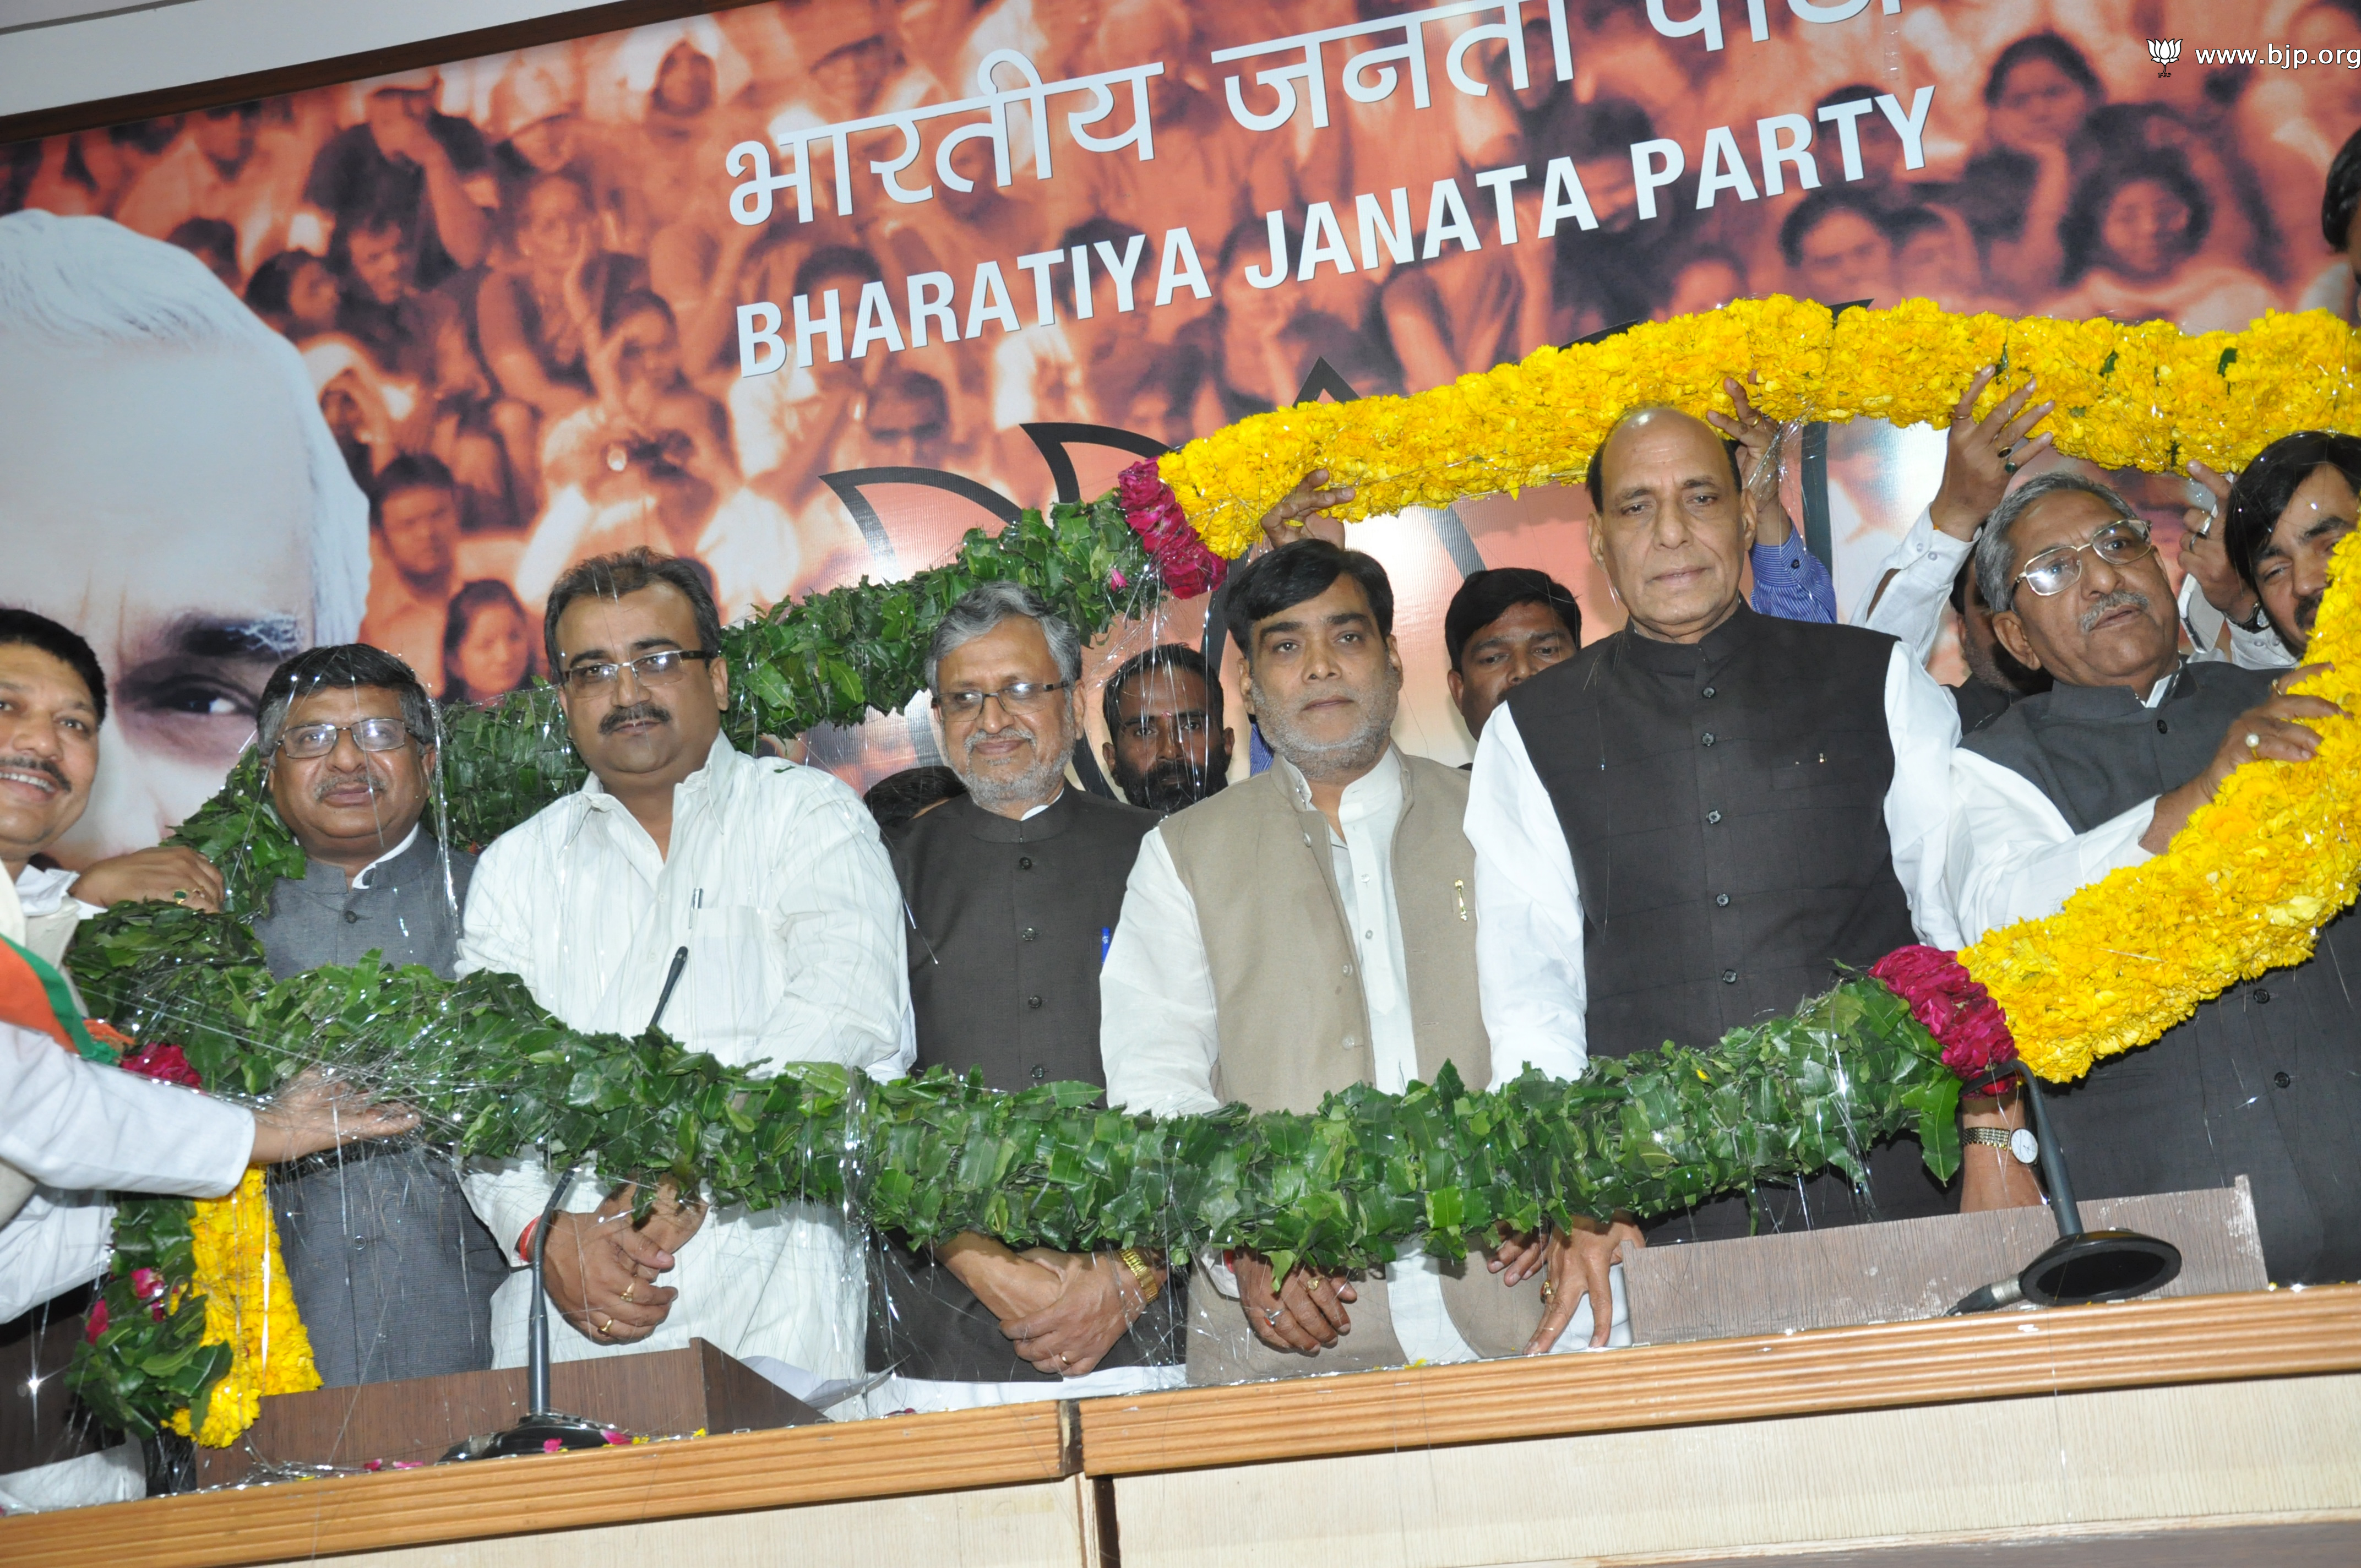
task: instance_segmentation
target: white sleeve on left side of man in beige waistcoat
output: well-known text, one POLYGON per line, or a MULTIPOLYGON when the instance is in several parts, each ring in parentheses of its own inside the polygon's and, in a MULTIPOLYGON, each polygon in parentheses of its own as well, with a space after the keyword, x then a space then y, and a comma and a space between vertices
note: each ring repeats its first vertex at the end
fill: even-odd
POLYGON ((1180 886, 1164 829, 1140 838, 1107 961, 1098 968, 1098 1056, 1107 1105, 1190 1117, 1221 1110, 1221 1011, 1197 900, 1180 886))

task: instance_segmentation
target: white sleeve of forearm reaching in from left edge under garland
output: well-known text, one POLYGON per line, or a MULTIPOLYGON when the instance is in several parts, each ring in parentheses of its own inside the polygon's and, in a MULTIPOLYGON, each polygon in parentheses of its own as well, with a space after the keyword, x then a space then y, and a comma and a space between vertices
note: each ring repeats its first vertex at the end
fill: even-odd
POLYGON ((50 1188, 220 1197, 246 1176, 255 1117, 68 1056, 0 1023, 0 1159, 50 1188))

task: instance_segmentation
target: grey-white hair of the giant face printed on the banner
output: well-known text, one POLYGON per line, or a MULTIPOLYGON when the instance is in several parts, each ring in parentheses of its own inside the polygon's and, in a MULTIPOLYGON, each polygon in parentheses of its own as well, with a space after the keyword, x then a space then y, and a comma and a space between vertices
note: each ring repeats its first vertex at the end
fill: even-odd
POLYGON ((368 605, 368 498, 319 413, 295 345, 203 262, 109 217, 0 217, 0 340, 66 349, 253 349, 293 399, 312 479, 312 640, 349 642, 368 605))

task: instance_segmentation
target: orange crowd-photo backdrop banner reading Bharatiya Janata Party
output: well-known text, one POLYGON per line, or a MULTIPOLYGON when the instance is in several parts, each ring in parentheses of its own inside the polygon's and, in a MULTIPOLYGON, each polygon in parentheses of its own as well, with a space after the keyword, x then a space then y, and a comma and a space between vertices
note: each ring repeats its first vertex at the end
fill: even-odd
MULTIPOLYGON (((1254 411, 1747 295, 2349 316, 2319 210, 2354 12, 805 0, 0 149, 0 602, 85 633, 116 694, 61 857, 205 801, 300 647, 529 682, 550 583, 604 550, 689 555, 744 616, 1254 411)), ((1830 432, 1844 612, 1941 451, 1830 432)), ((2172 560, 2186 484, 2123 482, 2172 560)), ((1355 524, 1410 751, 1471 753, 1466 571, 1620 623, 1584 517, 1551 489, 1355 524)), ((1204 612, 1121 623, 1093 680, 1204 612)), ((937 760, 923 706, 807 739, 857 786, 937 760)))

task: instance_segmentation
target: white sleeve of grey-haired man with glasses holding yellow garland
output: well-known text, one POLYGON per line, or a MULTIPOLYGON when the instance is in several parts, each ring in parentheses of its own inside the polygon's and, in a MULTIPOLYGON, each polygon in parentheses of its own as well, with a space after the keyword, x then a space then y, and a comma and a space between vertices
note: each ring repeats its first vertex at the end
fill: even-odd
POLYGON ((1950 767, 1948 883, 1967 942, 2014 921, 2047 919, 2075 888, 2149 860, 2139 836, 2156 819, 2153 796, 2075 834, 2014 767, 1974 751, 1957 751, 1950 767))

